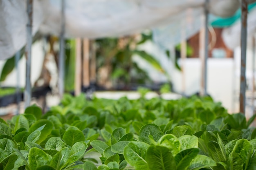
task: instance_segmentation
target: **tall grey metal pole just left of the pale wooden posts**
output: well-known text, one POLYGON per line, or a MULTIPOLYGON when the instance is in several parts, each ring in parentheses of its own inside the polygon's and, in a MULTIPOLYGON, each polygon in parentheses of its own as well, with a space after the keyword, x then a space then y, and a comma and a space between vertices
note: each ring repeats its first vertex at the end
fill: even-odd
POLYGON ((64 93, 64 72, 65 72, 65 0, 61 1, 61 34, 60 34, 60 55, 58 60, 58 92, 62 98, 64 93))

